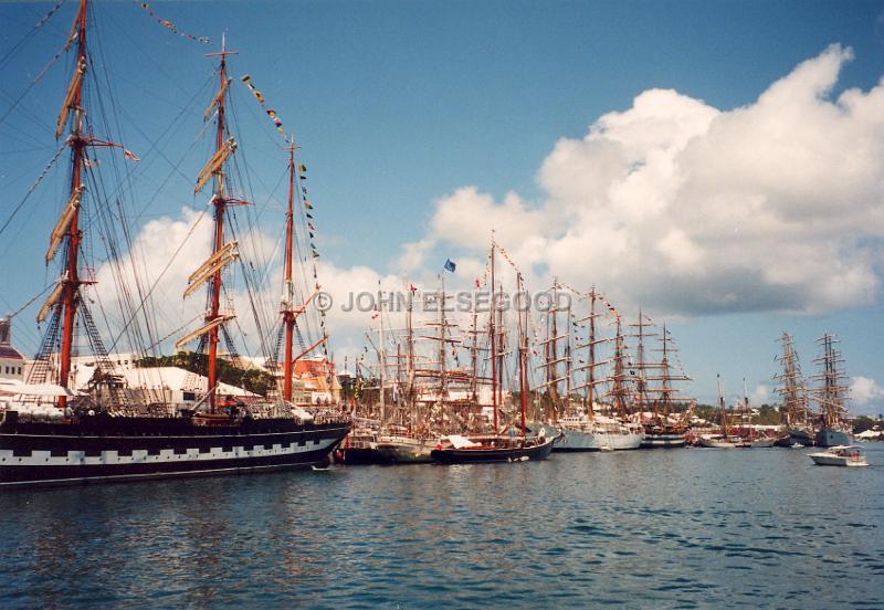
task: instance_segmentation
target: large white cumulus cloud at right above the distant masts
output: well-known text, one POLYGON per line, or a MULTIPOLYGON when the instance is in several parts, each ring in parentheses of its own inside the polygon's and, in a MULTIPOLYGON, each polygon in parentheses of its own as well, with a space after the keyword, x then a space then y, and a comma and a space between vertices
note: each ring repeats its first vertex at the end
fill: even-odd
POLYGON ((409 248, 478 251, 496 229, 544 282, 596 284, 666 315, 870 304, 884 232, 884 85, 833 98, 852 56, 832 45, 734 109, 645 91, 585 137, 556 143, 537 173, 543 201, 457 189, 409 248))

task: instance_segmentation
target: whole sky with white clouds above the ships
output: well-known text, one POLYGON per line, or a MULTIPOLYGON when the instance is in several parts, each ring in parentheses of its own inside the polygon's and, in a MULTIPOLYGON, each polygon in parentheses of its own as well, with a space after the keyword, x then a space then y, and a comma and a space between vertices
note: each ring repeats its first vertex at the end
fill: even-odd
MULTIPOLYGON (((212 42, 139 2, 92 9, 108 129, 143 159, 120 192, 148 266, 206 207, 192 194, 211 152, 204 54, 225 32, 231 73, 251 74, 302 146, 333 293, 433 285, 446 259, 452 287, 469 287, 495 230, 533 286, 594 284, 624 315, 667 322, 701 401, 715 400, 718 372, 728 393, 746 378, 754 402, 771 400, 781 333, 811 372, 813 341, 831 332, 853 410, 884 410, 884 3, 149 6, 212 42)), ((66 2, 31 32, 52 7, 0 3, 0 222, 57 149, 71 57, 31 85, 73 19, 66 2)), ((281 143, 233 86, 240 149, 272 214, 281 143)), ((50 170, 0 235, 0 308, 19 311, 54 276, 44 241, 64 176, 50 170)), ((276 229, 259 248, 273 250, 276 229)), ((178 266, 161 291, 169 330, 193 307, 178 266)), ((15 322, 25 351, 38 306, 15 322)), ((333 311, 338 357, 369 324, 333 311)))

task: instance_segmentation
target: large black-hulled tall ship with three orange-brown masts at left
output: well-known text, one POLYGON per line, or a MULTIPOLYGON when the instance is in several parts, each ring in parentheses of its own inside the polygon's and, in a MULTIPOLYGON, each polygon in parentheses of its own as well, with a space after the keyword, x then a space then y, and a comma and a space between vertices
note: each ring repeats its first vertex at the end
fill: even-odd
MULTIPOLYGON (((350 424, 336 411, 308 411, 292 401, 292 367, 298 357, 293 354, 293 337, 298 333, 297 318, 306 311, 306 301, 298 303, 294 298, 294 200, 301 200, 295 188, 294 145, 288 151, 287 259, 277 319, 277 345, 284 346, 285 354, 282 391, 250 401, 232 400, 219 391, 219 343, 232 344, 234 319, 232 312, 221 307, 222 282, 224 269, 240 257, 236 241, 225 231, 225 217, 232 207, 245 204, 228 188, 227 165, 236 140, 225 119, 231 82, 227 59, 232 52, 223 43, 219 53, 211 54, 219 61, 219 88, 206 113, 207 118, 214 117, 214 154, 194 188, 196 194, 212 185, 211 254, 190 275, 186 291, 190 295, 207 287, 207 306, 202 325, 178 341, 178 346, 199 341, 198 351, 208 364, 207 390, 190 409, 147 403, 127 391, 107 357, 90 312, 88 291, 95 278, 83 265, 91 244, 86 242, 81 215, 87 203, 92 208, 87 218, 108 215, 110 202, 102 201, 105 191, 93 176, 97 166, 93 154, 98 148, 122 146, 96 138, 95 126, 90 122, 84 96, 84 83, 94 65, 86 46, 87 24, 92 22, 88 10, 87 0, 80 0, 67 44, 75 53, 73 75, 56 122, 56 138, 67 133, 64 141, 70 149, 70 183, 66 203, 50 234, 45 261, 48 265, 57 261, 60 274, 38 315, 39 322, 48 324, 35 364, 27 383, 21 385, 1 414, 0 486, 260 472, 326 463, 350 424), (75 390, 72 356, 77 332, 87 336, 95 370, 85 389, 75 390)), ((119 284, 138 290, 136 282, 123 277, 119 284)), ((141 305, 129 312, 127 329, 144 314, 146 302, 143 298, 141 305)), ((320 343, 326 339, 323 336, 320 343)), ((228 355, 231 353, 229 347, 228 355)))

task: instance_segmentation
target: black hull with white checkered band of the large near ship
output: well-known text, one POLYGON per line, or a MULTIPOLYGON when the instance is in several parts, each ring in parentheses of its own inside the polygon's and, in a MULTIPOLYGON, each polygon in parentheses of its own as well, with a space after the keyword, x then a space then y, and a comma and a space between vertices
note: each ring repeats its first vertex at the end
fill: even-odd
POLYGON ((325 465, 348 423, 86 418, 0 425, 0 487, 264 472, 325 465), (138 424, 143 425, 138 425, 138 424))

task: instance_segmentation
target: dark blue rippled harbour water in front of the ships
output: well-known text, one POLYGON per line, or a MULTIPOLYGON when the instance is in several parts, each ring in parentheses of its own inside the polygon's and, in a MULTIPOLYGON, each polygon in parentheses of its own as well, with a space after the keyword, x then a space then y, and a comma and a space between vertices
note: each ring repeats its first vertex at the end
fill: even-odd
POLYGON ((884 445, 0 492, 0 606, 884 607, 884 445))

